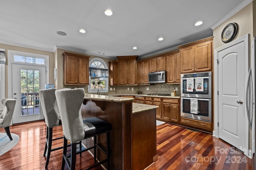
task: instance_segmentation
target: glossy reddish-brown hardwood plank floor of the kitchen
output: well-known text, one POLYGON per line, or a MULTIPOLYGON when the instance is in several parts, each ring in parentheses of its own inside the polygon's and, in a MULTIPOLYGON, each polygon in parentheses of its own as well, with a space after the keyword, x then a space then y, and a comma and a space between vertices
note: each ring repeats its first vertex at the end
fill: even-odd
MULTIPOLYGON (((0 156, 0 170, 43 170, 46 162, 43 157, 46 136, 44 121, 12 125, 10 131, 19 135, 20 141, 0 156)), ((4 132, 4 128, 0 132, 4 132)), ((62 127, 55 127, 53 134, 56 138, 61 137, 62 127)), ((157 126, 156 136, 157 160, 148 170, 252 170, 250 158, 212 135, 164 123, 157 126)), ((61 145, 62 139, 53 143, 53 147, 61 145)), ((61 162, 62 150, 53 151, 48 169, 60 169, 61 162)), ((77 155, 76 169, 84 169, 92 163, 92 156, 83 152, 82 157, 77 155)))

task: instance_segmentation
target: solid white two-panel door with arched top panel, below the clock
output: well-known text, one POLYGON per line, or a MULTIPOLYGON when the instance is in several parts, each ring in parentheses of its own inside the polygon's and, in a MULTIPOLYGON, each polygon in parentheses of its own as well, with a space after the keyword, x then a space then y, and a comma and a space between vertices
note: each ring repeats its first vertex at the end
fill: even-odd
POLYGON ((243 151, 248 149, 244 101, 248 55, 245 55, 244 43, 241 41, 218 52, 218 136, 243 151))

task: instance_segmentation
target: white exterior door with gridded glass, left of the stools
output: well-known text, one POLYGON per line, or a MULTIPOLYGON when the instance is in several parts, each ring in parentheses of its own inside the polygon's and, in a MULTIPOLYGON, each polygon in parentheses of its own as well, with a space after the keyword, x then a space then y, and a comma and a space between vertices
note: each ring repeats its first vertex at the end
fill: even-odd
POLYGON ((13 123, 44 119, 38 90, 46 84, 46 67, 12 64, 12 98, 16 98, 13 123))

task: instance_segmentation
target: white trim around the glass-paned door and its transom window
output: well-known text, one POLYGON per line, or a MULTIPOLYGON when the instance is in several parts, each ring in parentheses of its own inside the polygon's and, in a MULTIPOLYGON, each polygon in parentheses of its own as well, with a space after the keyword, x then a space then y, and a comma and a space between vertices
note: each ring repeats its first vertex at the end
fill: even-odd
MULTIPOLYGON (((48 55, 8 50, 8 87, 12 87, 12 64, 46 66, 46 84, 49 84, 49 56, 48 55), (43 58, 45 59, 45 64, 30 64, 30 63, 15 62, 14 55, 43 58)), ((12 88, 8 88, 8 98, 12 98, 12 88)))

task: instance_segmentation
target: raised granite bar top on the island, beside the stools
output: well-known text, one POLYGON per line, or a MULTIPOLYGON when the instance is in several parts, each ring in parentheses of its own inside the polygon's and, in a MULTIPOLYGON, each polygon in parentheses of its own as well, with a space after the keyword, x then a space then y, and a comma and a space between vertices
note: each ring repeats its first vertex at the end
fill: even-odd
POLYGON ((130 102, 133 101, 133 98, 122 98, 117 96, 106 96, 106 95, 98 95, 98 94, 84 94, 84 99, 88 100, 98 100, 98 101, 106 101, 106 102, 130 102))

